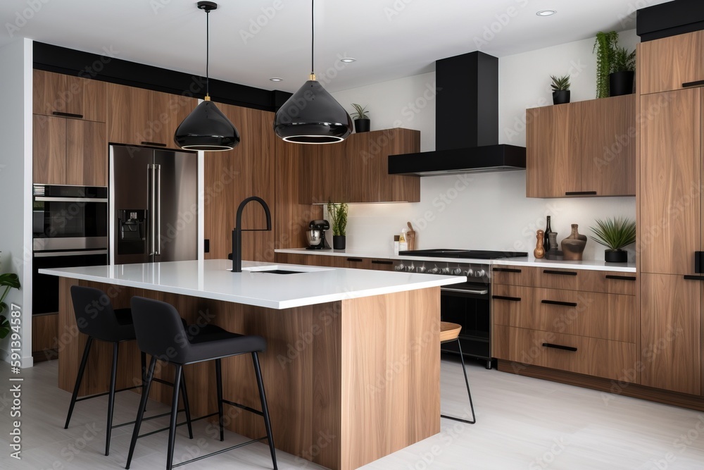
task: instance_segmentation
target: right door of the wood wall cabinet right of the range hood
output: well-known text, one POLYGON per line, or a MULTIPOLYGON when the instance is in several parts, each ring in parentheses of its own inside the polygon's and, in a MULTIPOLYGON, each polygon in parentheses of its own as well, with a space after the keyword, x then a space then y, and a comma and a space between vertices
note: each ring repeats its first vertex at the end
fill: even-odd
POLYGON ((582 191, 636 195, 636 95, 580 101, 582 191))

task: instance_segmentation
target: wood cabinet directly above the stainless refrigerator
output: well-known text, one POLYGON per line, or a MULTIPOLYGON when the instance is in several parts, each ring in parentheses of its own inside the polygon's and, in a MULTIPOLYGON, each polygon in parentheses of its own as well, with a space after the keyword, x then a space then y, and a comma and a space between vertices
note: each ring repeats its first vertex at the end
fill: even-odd
POLYGON ((174 133, 197 99, 114 83, 107 87, 110 142, 178 148, 174 133))

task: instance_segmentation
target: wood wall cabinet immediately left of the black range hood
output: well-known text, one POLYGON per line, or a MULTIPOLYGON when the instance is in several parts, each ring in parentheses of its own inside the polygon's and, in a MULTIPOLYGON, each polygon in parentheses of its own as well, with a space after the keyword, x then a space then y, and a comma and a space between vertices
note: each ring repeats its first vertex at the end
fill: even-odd
POLYGON ((420 201, 417 176, 389 175, 389 155, 420 151, 417 130, 362 132, 339 144, 303 147, 301 204, 420 201))

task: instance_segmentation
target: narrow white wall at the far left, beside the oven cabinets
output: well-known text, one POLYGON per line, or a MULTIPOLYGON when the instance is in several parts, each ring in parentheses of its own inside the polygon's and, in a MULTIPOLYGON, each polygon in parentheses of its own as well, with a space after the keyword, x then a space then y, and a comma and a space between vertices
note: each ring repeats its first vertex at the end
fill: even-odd
MULTIPOLYGON (((20 39, 0 49, 0 272, 17 273, 21 290, 6 304, 22 311, 22 366, 32 366, 32 41, 20 39)), ((9 316, 9 310, 4 311, 9 316)), ((0 342, 9 360, 10 340, 0 342)))

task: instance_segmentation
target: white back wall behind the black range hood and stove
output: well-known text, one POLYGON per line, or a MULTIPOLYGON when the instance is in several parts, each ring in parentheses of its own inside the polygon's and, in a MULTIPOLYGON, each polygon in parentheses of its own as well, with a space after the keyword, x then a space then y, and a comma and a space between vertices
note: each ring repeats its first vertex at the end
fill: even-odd
MULTIPOLYGON (((635 31, 622 32, 632 49, 635 31)), ((499 142, 525 145, 525 110, 552 104, 550 75, 572 75, 572 101, 596 97, 594 39, 561 44, 499 59, 499 142)), ((372 130, 403 127, 421 131, 421 150, 435 148, 435 74, 425 73, 333 93, 347 109, 368 105, 372 130)), ((634 197, 534 199, 525 197, 525 171, 432 176, 420 180, 421 201, 353 204, 347 229, 348 251, 390 250, 393 235, 413 223, 417 248, 516 249, 532 255, 535 230, 552 216, 558 242, 570 234, 591 235, 596 218, 635 218, 634 197)), ((604 247, 590 240, 584 259, 603 259, 604 247)), ((629 257, 629 260, 632 260, 629 257)))

